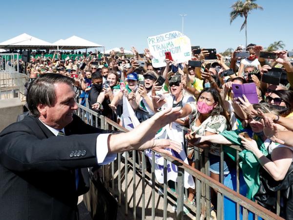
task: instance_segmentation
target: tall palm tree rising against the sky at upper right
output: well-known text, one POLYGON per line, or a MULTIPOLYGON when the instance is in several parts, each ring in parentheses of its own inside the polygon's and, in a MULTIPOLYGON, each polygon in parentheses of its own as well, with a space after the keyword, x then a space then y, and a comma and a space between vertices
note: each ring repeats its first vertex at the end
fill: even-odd
POLYGON ((245 45, 247 46, 247 17, 250 11, 253 9, 261 9, 263 7, 259 6, 258 4, 254 3, 255 0, 237 0, 234 4, 232 4, 231 8, 232 11, 230 12, 230 24, 237 18, 237 17, 244 17, 244 22, 241 25, 240 31, 245 27, 245 45))

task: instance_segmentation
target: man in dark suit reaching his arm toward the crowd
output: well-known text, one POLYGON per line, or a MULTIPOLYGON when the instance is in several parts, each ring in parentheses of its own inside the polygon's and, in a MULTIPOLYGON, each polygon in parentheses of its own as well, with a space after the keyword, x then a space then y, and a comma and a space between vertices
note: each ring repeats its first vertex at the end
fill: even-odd
POLYGON ((155 114, 136 129, 111 134, 86 125, 77 110, 73 80, 44 74, 27 92, 32 116, 0 133, 0 219, 76 220, 78 196, 88 181, 85 167, 105 164, 116 153, 181 146, 153 137, 177 119, 178 109, 155 114))

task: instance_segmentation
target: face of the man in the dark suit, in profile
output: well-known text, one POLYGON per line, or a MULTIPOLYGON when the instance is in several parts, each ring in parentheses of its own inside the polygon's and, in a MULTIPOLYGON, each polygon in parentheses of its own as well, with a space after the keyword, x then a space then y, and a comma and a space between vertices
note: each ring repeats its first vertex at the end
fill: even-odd
POLYGON ((75 92, 72 86, 66 83, 55 84, 56 103, 54 106, 45 107, 44 123, 50 127, 61 130, 72 122, 73 112, 77 110, 75 92))

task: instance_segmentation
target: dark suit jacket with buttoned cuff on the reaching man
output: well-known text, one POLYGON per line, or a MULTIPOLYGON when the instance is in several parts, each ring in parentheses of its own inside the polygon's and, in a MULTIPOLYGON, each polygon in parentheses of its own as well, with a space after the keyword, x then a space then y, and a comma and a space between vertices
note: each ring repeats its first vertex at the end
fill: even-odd
POLYGON ((66 136, 32 116, 0 133, 0 220, 76 219, 88 173, 80 172, 76 190, 75 169, 97 165, 96 138, 105 131, 73 118, 66 136))

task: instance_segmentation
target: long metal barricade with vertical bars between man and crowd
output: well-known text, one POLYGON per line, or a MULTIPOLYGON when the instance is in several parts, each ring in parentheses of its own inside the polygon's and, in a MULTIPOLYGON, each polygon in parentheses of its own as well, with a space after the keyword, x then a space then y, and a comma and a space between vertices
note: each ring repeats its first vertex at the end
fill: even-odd
MULTIPOLYGON (((109 129, 114 131, 127 132, 127 130, 105 116, 99 115, 97 112, 88 110, 78 105, 79 116, 88 124, 95 124, 96 127, 109 129), (86 116, 88 115, 88 116, 86 116), (87 118, 86 118, 87 117, 87 118), (93 123, 94 122, 94 123, 93 123)), ((241 151, 239 146, 231 146, 237 153, 241 151)), ((237 155, 237 189, 224 186, 223 172, 220 173, 220 182, 212 179, 207 175, 209 173, 209 160, 207 160, 208 151, 195 151, 195 168, 185 164, 182 160, 160 154, 164 158, 164 183, 163 185, 156 182, 155 178, 155 154, 152 151, 152 160, 150 169, 146 168, 145 152, 125 152, 118 154, 117 160, 103 168, 104 181, 106 188, 117 198, 121 209, 124 209, 125 215, 129 215, 131 211, 131 219, 163 219, 171 217, 173 219, 211 219, 211 203, 210 190, 216 191, 217 197, 217 220, 224 219, 224 196, 230 198, 236 203, 236 219, 248 219, 248 211, 254 214, 254 219, 261 217, 266 220, 281 220, 279 217, 279 203, 277 205, 277 214, 270 212, 256 202, 239 194, 239 156, 237 155), (138 159, 137 159, 138 158, 138 159), (141 159, 139 159, 141 158, 141 159), (178 177, 175 183, 175 191, 170 189, 167 184, 167 161, 176 165, 178 168, 178 177), (195 206, 187 201, 187 190, 184 189, 184 173, 187 172, 194 178, 195 182, 195 206), (159 188, 163 188, 163 204, 159 212, 158 204, 160 197, 158 196, 159 188), (147 189, 150 188, 150 189, 147 189), (132 192, 130 192, 132 189, 132 192), (131 202, 132 201, 132 202, 131 202), (169 204, 176 204, 176 212, 168 211, 169 204), (184 215, 184 206, 190 209, 190 214, 184 215), (242 217, 240 217, 240 208, 242 207, 242 217), (131 209, 131 210, 130 210, 131 209)), ((223 171, 224 153, 221 147, 221 170, 223 171)), ((279 196, 278 196, 279 198, 279 196)), ((279 202, 279 200, 278 200, 279 202)), ((161 202, 162 203, 162 202, 161 202)), ((120 211, 121 212, 121 211, 120 211)), ((130 216, 129 216, 130 217, 130 216)))

